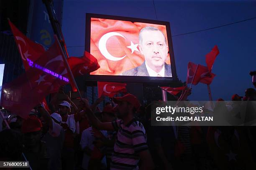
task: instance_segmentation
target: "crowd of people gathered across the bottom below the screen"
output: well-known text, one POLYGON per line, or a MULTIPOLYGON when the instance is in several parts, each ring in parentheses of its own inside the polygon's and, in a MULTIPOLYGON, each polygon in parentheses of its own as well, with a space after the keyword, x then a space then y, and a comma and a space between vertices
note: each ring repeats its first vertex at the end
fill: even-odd
MULTIPOLYGON (((62 93, 63 91, 60 90, 62 93)), ((182 91, 187 100, 191 89, 182 91)), ((151 126, 151 107, 136 96, 113 97, 103 110, 52 98, 28 119, 11 116, 0 132, 0 161, 28 161, 33 170, 251 170, 256 129, 234 126, 151 126), (74 112, 71 113, 71 107, 74 112)), ((218 99, 221 101, 223 99, 218 99)), ((255 101, 256 90, 231 100, 255 101)), ((227 105, 227 110, 233 110, 227 105)), ((205 109, 202 114, 210 110, 205 109)))

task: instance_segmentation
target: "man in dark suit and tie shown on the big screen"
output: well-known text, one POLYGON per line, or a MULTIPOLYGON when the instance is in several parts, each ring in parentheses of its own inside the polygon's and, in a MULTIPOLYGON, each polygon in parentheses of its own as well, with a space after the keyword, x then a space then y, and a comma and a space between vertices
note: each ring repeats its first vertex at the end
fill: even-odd
POLYGON ((121 75, 172 77, 171 65, 165 63, 168 46, 164 34, 154 27, 145 27, 139 33, 139 49, 144 55, 142 65, 123 72, 121 75))

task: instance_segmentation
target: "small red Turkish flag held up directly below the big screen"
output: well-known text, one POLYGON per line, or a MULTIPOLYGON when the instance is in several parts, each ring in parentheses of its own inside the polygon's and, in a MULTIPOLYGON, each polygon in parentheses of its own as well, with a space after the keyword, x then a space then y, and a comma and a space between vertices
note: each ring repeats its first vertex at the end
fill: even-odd
POLYGON ((120 92, 127 92, 126 84, 119 82, 97 82, 98 96, 106 95, 108 97, 114 97, 114 95, 120 92))

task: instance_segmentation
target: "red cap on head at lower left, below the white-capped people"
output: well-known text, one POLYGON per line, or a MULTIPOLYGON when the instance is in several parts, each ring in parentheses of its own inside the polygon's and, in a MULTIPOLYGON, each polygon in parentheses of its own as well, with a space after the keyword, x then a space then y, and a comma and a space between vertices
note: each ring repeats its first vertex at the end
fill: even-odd
POLYGON ((41 128, 42 128, 41 120, 36 116, 29 116, 27 120, 23 121, 23 124, 21 126, 21 132, 22 133, 36 132, 41 130, 41 128))

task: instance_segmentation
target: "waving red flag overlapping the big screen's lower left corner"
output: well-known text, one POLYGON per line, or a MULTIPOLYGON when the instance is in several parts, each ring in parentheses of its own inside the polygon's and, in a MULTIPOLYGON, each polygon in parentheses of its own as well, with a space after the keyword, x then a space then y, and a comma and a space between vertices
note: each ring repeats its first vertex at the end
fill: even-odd
POLYGON ((69 57, 67 61, 74 77, 88 74, 100 68, 97 59, 87 51, 84 51, 83 57, 69 57))

